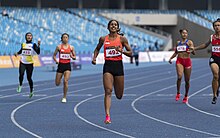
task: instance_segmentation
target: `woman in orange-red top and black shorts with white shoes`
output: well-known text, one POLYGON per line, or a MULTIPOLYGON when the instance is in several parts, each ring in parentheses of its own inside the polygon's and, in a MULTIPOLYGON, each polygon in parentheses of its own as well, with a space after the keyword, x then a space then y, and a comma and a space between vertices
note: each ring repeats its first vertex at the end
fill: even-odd
POLYGON ((59 86, 61 83, 62 76, 64 76, 63 80, 63 98, 61 100, 62 103, 66 103, 66 95, 68 91, 68 80, 70 78, 71 73, 71 65, 70 59, 76 59, 76 53, 74 47, 68 44, 69 35, 67 33, 62 34, 61 41, 62 44, 56 47, 56 50, 53 54, 53 60, 58 64, 57 74, 55 84, 59 86), (56 59, 56 55, 59 52, 59 61, 56 59))

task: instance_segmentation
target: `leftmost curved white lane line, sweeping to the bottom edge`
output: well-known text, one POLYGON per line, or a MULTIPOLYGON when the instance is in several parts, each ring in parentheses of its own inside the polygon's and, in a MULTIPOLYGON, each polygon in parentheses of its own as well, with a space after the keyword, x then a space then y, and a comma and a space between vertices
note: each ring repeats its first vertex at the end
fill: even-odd
MULTIPOLYGON (((74 92, 69 92, 69 93, 75 93, 75 92, 81 92, 81 91, 86 91, 86 90, 90 90, 90 89, 95 89, 95 88, 99 88, 100 86, 95 86, 95 87, 89 87, 89 88, 85 88, 85 89, 80 89, 80 90, 76 90, 74 92)), ((26 128, 22 127, 21 125, 19 125, 19 123, 17 123, 16 119, 15 119, 15 113, 21 109, 22 107, 26 106, 26 105, 29 105, 29 104, 32 104, 34 102, 37 102, 37 101, 41 101, 41 100, 44 100, 44 99, 48 99, 48 98, 52 98, 52 97, 56 97, 56 96, 60 96, 60 95, 63 95, 63 94, 56 94, 56 95, 51 95, 51 96, 47 96, 47 97, 43 97, 43 98, 40 98, 40 99, 36 99, 36 100, 33 100, 33 101, 30 101, 30 102, 27 102, 27 103, 24 103, 20 106, 18 106, 17 108, 15 108, 12 113, 11 113, 11 121, 13 122, 13 124, 15 124, 18 128, 20 128, 21 130, 23 130, 24 132, 34 136, 34 137, 37 137, 37 138, 41 138, 41 136, 39 136, 38 134, 35 134, 34 132, 31 132, 30 130, 27 130, 26 128)))

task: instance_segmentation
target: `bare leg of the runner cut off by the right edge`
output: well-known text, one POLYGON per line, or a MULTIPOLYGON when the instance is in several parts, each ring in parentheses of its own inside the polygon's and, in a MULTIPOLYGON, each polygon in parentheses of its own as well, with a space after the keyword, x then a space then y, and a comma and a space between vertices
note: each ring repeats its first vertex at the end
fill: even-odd
POLYGON ((213 79, 212 79, 212 91, 213 91, 213 97, 217 97, 217 89, 218 89, 218 79, 219 79, 219 67, 216 63, 212 63, 210 65, 213 79))

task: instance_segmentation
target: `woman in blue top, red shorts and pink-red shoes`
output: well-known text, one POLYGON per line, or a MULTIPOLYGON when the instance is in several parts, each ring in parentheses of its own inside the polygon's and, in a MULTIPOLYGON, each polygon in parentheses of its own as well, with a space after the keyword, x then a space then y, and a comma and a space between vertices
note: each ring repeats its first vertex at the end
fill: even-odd
POLYGON ((176 101, 180 99, 180 86, 181 80, 184 73, 185 79, 185 96, 183 98, 183 103, 188 102, 188 92, 189 92, 189 82, 190 82, 190 75, 192 70, 192 62, 190 59, 190 51, 194 54, 194 46, 191 40, 188 40, 188 31, 186 29, 180 30, 180 35, 182 40, 177 41, 177 46, 174 54, 170 57, 169 63, 172 64, 172 59, 176 57, 176 72, 177 72, 177 94, 176 94, 176 101))

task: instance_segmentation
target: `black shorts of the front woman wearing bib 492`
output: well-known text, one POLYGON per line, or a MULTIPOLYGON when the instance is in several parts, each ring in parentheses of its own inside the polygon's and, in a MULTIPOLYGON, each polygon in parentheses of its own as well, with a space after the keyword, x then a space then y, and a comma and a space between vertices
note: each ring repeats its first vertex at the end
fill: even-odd
POLYGON ((111 73, 113 76, 124 76, 122 61, 106 60, 103 66, 103 74, 106 72, 111 73))

